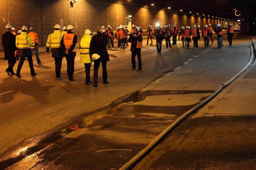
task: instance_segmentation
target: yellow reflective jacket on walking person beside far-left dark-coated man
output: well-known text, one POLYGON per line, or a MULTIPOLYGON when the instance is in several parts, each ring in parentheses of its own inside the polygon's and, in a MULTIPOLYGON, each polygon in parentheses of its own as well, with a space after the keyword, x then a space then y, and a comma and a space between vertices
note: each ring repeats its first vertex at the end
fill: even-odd
POLYGON ((29 35, 27 35, 26 32, 22 32, 19 36, 17 36, 15 44, 16 47, 19 49, 26 49, 35 46, 35 44, 32 41, 32 38, 29 35))

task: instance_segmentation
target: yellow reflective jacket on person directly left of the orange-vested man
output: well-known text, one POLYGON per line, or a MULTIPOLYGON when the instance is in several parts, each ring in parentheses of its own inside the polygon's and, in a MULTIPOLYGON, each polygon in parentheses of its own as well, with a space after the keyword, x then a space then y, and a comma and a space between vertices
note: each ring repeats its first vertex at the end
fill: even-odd
POLYGON ((63 34, 61 34, 59 30, 54 30, 54 33, 48 36, 46 47, 51 46, 51 48, 61 48, 60 41, 62 36, 63 34))

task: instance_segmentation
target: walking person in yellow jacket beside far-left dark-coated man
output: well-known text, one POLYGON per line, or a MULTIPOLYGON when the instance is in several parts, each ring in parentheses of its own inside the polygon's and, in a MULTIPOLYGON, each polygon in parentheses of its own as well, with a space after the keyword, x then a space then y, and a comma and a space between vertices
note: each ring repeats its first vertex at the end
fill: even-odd
POLYGON ((35 76, 37 75, 37 73, 35 73, 35 69, 33 67, 32 52, 30 47, 38 46, 38 44, 34 43, 32 41, 32 38, 29 35, 27 35, 28 28, 26 26, 23 26, 21 30, 22 30, 22 33, 16 37, 16 42, 15 42, 16 47, 19 49, 19 54, 20 54, 20 62, 16 71, 16 76, 19 78, 21 77, 20 70, 23 66, 25 57, 28 58, 31 76, 35 76))

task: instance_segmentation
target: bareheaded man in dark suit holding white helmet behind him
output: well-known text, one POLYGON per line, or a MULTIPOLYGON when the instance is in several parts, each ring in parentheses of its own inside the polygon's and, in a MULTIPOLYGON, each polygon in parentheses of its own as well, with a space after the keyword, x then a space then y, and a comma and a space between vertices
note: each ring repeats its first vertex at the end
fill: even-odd
POLYGON ((109 61, 108 51, 106 45, 108 43, 108 35, 102 34, 101 27, 95 28, 96 35, 91 38, 90 48, 91 54, 98 54, 100 58, 94 60, 93 67, 93 83, 94 87, 97 87, 98 83, 98 69, 100 67, 100 62, 102 64, 102 78, 103 84, 108 84, 108 73, 107 73, 107 62, 109 61))

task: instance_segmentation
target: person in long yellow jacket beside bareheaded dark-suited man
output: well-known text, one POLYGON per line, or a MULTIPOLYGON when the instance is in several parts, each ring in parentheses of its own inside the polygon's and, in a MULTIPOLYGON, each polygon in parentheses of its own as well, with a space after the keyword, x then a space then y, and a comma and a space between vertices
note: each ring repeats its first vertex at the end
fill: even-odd
POLYGON ((91 31, 89 29, 85 29, 83 37, 78 42, 78 47, 80 49, 80 62, 83 63, 85 67, 85 84, 87 85, 91 84, 90 70, 91 63, 93 62, 93 54, 89 51, 91 38, 91 31))

